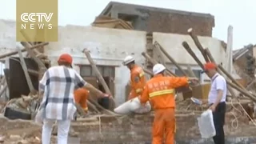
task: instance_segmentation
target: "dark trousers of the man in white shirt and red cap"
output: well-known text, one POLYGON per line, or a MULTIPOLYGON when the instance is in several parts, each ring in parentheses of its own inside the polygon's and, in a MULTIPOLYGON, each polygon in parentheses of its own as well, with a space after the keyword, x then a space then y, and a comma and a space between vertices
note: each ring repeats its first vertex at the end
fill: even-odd
POLYGON ((225 124, 226 102, 220 102, 213 113, 214 126, 216 135, 214 136, 215 144, 225 144, 225 134, 223 126, 225 124))

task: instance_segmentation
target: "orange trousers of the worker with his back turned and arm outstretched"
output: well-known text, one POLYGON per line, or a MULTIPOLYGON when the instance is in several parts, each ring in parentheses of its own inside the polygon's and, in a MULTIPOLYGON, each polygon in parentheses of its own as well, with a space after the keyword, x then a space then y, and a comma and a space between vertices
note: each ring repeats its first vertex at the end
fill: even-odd
POLYGON ((176 132, 174 108, 154 110, 154 123, 152 129, 152 144, 174 144, 176 132))

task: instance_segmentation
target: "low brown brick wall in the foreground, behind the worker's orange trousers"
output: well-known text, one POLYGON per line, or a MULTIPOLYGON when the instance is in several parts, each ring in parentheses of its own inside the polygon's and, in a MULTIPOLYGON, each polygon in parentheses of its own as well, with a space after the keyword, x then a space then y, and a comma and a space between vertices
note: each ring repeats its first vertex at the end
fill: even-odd
MULTIPOLYGON (((177 137, 198 138, 199 132, 196 127, 196 115, 182 114, 176 117, 177 137), (190 121, 187 121, 190 119, 190 121)), ((90 126, 81 124, 73 125, 76 131, 80 132, 82 142, 150 142, 151 127, 154 117, 148 115, 135 115, 133 118, 101 118, 101 129, 99 123, 95 122, 90 126), (101 131, 101 134, 100 134, 101 131)), ((136 144, 138 144, 136 143, 136 144)))

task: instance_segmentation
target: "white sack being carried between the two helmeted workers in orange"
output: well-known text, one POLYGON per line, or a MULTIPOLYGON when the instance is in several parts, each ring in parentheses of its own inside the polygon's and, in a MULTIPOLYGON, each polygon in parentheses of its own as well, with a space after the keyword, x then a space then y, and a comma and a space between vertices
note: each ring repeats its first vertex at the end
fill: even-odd
POLYGON ((129 101, 123 103, 114 109, 114 112, 117 114, 130 114, 132 112, 143 114, 151 110, 150 103, 147 102, 145 106, 142 106, 139 102, 138 97, 130 99, 129 101))

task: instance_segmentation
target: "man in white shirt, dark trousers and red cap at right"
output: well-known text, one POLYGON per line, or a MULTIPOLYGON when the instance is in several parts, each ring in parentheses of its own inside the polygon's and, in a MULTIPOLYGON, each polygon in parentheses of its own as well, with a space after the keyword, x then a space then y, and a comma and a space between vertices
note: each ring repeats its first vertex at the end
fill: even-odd
POLYGON ((208 103, 210 110, 214 115, 214 126, 216 135, 214 136, 215 144, 225 144, 225 134, 223 126, 225 123, 226 113, 226 79, 218 74, 217 66, 212 62, 205 64, 204 72, 211 78, 210 92, 208 103))

